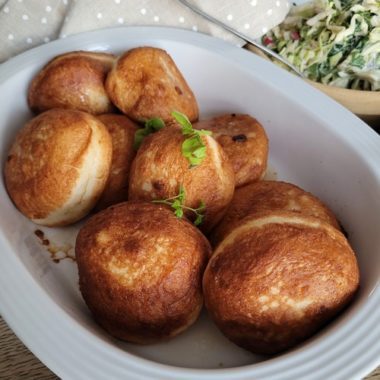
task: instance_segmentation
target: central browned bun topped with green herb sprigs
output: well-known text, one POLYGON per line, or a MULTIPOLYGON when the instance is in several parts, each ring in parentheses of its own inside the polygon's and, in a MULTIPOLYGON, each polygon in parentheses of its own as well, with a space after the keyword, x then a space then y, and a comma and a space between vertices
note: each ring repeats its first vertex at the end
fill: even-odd
MULTIPOLYGON (((130 200, 164 200, 185 190, 185 206, 206 205, 200 228, 209 231, 223 216, 234 192, 234 173, 227 156, 211 136, 202 136, 206 157, 195 167, 182 154, 181 130, 168 126, 146 137, 133 161, 129 182, 130 200)), ((191 220, 194 213, 185 210, 191 220)))

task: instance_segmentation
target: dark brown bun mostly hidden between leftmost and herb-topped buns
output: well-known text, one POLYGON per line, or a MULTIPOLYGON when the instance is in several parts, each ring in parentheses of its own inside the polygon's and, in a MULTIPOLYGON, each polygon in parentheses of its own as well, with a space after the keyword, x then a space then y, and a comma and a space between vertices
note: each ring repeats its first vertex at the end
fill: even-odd
POLYGON ((98 119, 112 137, 112 163, 106 187, 97 209, 103 209, 128 199, 129 171, 136 155, 133 148, 137 125, 124 115, 104 114, 98 119))

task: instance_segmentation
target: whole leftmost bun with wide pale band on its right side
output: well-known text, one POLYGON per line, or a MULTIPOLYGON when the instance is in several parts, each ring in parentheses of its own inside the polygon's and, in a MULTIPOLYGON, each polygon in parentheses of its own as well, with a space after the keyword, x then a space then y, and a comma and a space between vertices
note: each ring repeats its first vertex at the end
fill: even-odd
POLYGON ((75 110, 46 111, 25 125, 10 149, 9 196, 37 224, 73 223, 102 194, 111 155, 111 137, 97 118, 75 110))

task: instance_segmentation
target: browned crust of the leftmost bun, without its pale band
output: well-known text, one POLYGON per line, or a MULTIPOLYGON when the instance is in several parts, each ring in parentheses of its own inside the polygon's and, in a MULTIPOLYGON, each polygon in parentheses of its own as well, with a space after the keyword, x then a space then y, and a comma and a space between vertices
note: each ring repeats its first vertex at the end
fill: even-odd
POLYGON ((98 173, 99 185, 89 202, 91 208, 104 188, 111 161, 112 143, 104 125, 85 112, 53 109, 20 130, 8 154, 4 175, 10 197, 25 216, 44 219, 66 203, 81 174, 93 139, 92 128, 102 136, 99 154, 104 156, 104 167, 98 173))

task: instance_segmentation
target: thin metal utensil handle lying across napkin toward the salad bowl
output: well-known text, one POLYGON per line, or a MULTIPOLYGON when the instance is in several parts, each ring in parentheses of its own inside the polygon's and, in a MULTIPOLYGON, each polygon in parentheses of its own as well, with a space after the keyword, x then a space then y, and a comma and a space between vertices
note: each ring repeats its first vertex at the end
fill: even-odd
POLYGON ((182 3, 184 6, 188 7, 189 9, 191 9, 194 13, 199 14, 200 16, 207 19, 208 21, 211 21, 213 24, 216 24, 216 25, 220 26, 221 28, 228 30, 229 32, 231 32, 235 36, 242 38, 243 40, 245 40, 245 41, 249 42, 250 44, 252 44, 253 46, 255 46, 257 49, 263 51, 265 54, 267 54, 267 55, 271 56, 272 58, 275 58, 278 61, 282 62, 284 65, 286 65, 289 69, 291 69, 294 73, 296 73, 301 78, 305 78, 303 73, 297 67, 295 67, 293 64, 291 64, 288 60, 286 60, 281 55, 279 55, 279 54, 275 53, 274 51, 268 49, 266 46, 259 44, 254 39, 246 36, 243 33, 240 33, 238 30, 230 27, 229 25, 225 24, 224 22, 219 21, 216 18, 210 16, 208 13, 203 12, 201 9, 195 7, 193 4, 190 4, 188 1, 179 0, 179 2, 182 3))

